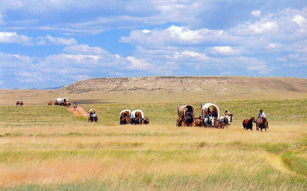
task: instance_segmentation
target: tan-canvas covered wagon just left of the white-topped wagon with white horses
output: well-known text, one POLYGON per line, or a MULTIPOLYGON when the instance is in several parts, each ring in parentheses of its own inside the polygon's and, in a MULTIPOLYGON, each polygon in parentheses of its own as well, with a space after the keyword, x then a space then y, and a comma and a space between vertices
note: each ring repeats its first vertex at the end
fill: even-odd
POLYGON ((192 126, 195 120, 195 109, 192 105, 178 105, 177 126, 192 126))

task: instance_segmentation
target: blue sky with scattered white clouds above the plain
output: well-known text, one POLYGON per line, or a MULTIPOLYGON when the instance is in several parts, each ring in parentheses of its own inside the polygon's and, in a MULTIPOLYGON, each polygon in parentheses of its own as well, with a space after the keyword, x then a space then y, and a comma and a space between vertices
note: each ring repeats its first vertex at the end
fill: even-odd
POLYGON ((307 78, 305 0, 0 0, 0 88, 92 78, 307 78))

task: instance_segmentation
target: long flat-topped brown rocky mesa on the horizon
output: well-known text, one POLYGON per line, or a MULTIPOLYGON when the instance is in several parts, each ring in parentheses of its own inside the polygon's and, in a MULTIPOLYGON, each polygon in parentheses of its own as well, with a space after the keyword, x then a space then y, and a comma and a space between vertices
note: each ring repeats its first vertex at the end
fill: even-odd
POLYGON ((133 77, 95 78, 74 82, 61 89, 69 93, 89 91, 229 91, 247 89, 287 89, 307 92, 307 80, 299 78, 255 78, 255 77, 133 77))

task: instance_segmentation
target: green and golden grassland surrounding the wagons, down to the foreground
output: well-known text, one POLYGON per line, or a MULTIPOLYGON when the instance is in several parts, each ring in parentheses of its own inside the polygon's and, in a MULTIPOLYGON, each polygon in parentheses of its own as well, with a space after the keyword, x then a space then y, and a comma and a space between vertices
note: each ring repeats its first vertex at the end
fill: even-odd
POLYGON ((0 189, 306 190, 306 101, 217 102, 234 115, 228 130, 176 127, 174 102, 83 105, 97 123, 60 106, 0 106, 0 189), (150 125, 119 126, 123 109, 150 125), (268 132, 243 130, 259 109, 268 132))

